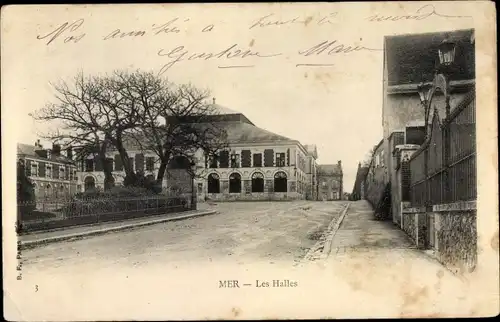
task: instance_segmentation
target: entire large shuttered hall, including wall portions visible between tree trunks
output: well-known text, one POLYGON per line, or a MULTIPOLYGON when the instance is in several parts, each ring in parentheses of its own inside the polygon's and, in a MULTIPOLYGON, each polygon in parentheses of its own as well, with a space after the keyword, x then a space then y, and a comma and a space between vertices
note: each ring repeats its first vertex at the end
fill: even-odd
MULTIPOLYGON (((316 200, 317 151, 314 145, 255 126, 245 115, 214 103, 217 115, 205 120, 217 122, 225 129, 229 148, 214 158, 202 151, 195 155, 196 176, 187 177, 182 169, 168 170, 163 186, 166 191, 191 193, 205 200, 316 200)), ((156 177, 159 163, 153 152, 140 151, 134 142, 126 142, 130 164, 134 171, 156 177)), ((118 152, 110 152, 115 184, 121 184, 125 173, 118 152)), ((79 162, 82 190, 104 187, 102 164, 88 157, 79 162)))

